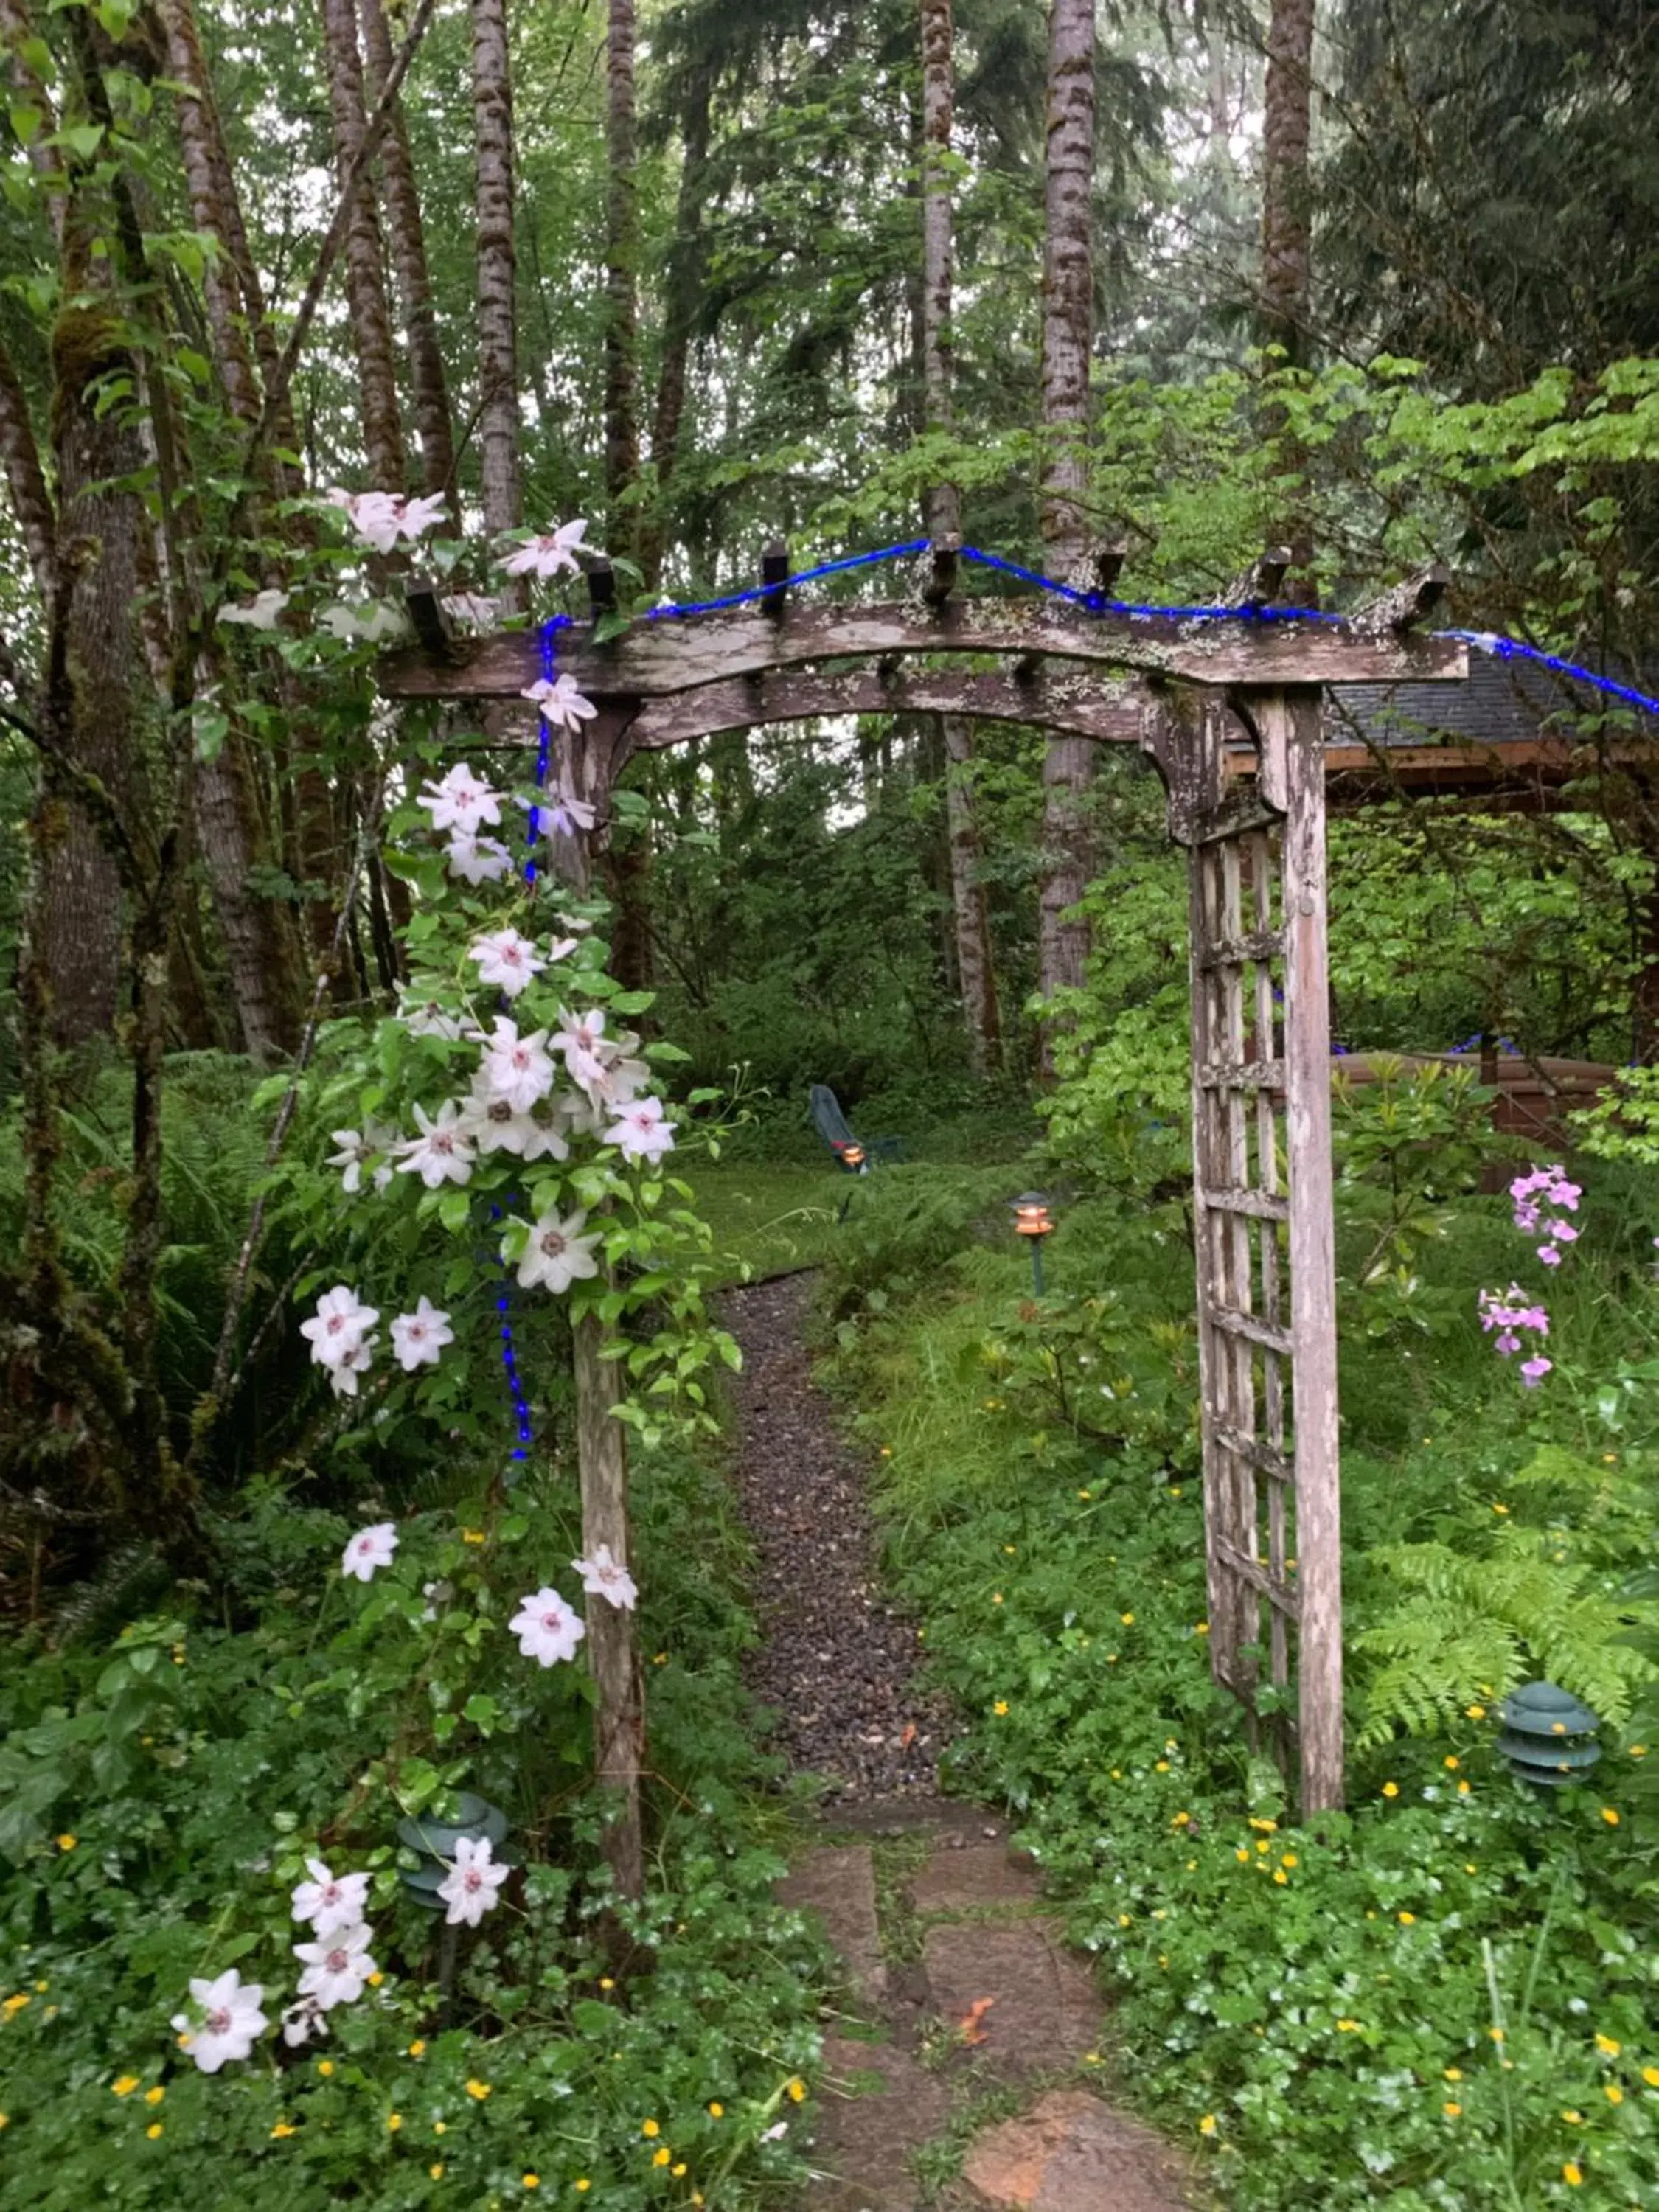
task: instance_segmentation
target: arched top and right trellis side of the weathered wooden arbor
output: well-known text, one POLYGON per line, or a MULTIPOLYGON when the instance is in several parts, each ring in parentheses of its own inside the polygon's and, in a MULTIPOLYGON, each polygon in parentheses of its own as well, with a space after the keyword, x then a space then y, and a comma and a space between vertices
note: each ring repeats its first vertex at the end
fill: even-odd
MULTIPOLYGON (((1263 1686, 1294 1683, 1287 1728, 1303 1814, 1336 1807, 1343 1588, 1323 695, 1334 684, 1460 679, 1467 648, 1413 633, 1440 577, 1352 622, 1294 619, 1263 615, 1285 568, 1270 555, 1225 617, 1181 619, 1082 611, 1051 593, 967 597, 951 540, 911 568, 902 602, 810 604, 790 588, 785 549, 770 546, 759 604, 635 622, 608 644, 595 644, 595 624, 573 624, 557 637, 557 668, 597 719, 562 741, 562 761, 575 796, 604 818, 635 752, 825 714, 1018 721, 1133 743, 1152 759, 1190 865, 1210 1661, 1252 1725, 1263 1686)), ((1091 586, 1104 597, 1115 573, 1104 555, 1091 586)), ((608 571, 588 586, 604 615, 608 571)), ((518 701, 544 672, 535 630, 456 639, 425 586, 411 588, 409 611, 420 641, 380 664, 387 697, 482 710, 518 701)))

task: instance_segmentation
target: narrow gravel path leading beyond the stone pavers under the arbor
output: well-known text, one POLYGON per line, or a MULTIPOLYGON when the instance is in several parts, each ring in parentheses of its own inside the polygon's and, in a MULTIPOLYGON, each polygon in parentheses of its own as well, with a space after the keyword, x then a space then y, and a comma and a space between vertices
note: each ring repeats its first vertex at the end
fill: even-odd
POLYGON ((812 1283, 792 1274, 721 1301, 743 1345, 737 1482, 759 1548, 748 1683, 776 1717, 772 1747, 823 1776, 830 1803, 929 1798, 949 1717, 914 1683, 916 1624, 880 1588, 863 1471, 812 1380, 812 1283))

